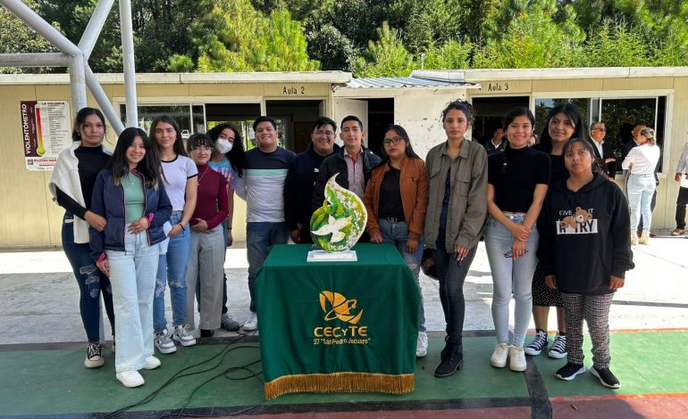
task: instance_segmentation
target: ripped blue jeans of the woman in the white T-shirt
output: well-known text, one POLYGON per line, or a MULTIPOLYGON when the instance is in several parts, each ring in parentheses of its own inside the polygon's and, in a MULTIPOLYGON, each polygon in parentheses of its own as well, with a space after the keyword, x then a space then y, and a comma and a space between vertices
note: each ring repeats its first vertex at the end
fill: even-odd
MULTIPOLYGON (((181 211, 172 212, 172 226, 179 223, 181 211)), ((155 275, 153 299, 153 330, 161 333, 167 328, 164 315, 164 289, 170 285, 172 326, 184 325, 187 319, 187 262, 189 261, 189 227, 170 239, 167 254, 160 255, 155 275)))

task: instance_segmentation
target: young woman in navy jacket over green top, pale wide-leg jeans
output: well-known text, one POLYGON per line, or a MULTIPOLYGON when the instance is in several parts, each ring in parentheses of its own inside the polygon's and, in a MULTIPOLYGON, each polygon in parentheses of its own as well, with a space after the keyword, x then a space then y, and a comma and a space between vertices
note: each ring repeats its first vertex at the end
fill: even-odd
POLYGON ((110 277, 117 327, 114 369, 127 387, 144 383, 139 369, 154 369, 153 292, 163 225, 172 204, 160 178, 160 161, 146 132, 122 131, 113 157, 96 178, 91 207, 105 218, 102 230, 91 226, 91 257, 110 277))

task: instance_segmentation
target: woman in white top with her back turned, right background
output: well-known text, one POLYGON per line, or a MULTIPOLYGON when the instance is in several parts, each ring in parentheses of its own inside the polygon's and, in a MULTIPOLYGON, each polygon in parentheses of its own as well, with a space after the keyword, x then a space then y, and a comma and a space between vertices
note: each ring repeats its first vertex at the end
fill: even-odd
MULTIPOLYGON (((655 130, 643 128, 641 135, 636 138, 639 142, 626 155, 621 167, 629 171, 628 203, 631 207, 631 232, 635 232, 642 216, 641 244, 648 244, 650 240, 650 225, 652 211, 650 201, 655 192, 655 169, 659 161, 659 147, 655 144, 655 130)), ((631 244, 637 244, 636 235, 631 234, 631 244)))

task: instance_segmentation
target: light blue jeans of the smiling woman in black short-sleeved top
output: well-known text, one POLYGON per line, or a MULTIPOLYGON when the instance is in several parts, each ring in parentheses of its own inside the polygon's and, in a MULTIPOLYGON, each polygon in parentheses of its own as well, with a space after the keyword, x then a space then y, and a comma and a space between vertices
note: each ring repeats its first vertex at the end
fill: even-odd
MULTIPOLYGON (((516 224, 524 223, 523 214, 508 216, 516 224)), ((528 241, 525 242, 526 253, 514 260, 511 245, 514 236, 506 226, 494 218, 488 219, 485 233, 485 250, 490 261, 492 272, 492 321, 499 343, 508 343, 508 303, 514 295, 514 341, 516 346, 524 346, 525 333, 531 321, 533 311, 533 273, 537 266, 538 250, 537 228, 533 226, 528 241)))

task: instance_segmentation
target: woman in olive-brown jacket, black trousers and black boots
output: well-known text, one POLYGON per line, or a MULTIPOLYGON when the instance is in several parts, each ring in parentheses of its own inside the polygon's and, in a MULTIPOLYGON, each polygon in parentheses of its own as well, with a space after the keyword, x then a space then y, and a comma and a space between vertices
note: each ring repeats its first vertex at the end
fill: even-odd
POLYGON ((447 322, 446 344, 435 376, 447 377, 464 361, 464 281, 487 215, 487 153, 482 145, 466 140, 473 124, 470 103, 449 103, 441 119, 447 140, 432 147, 425 160, 429 200, 424 233, 425 246, 432 249, 437 266, 447 322))

